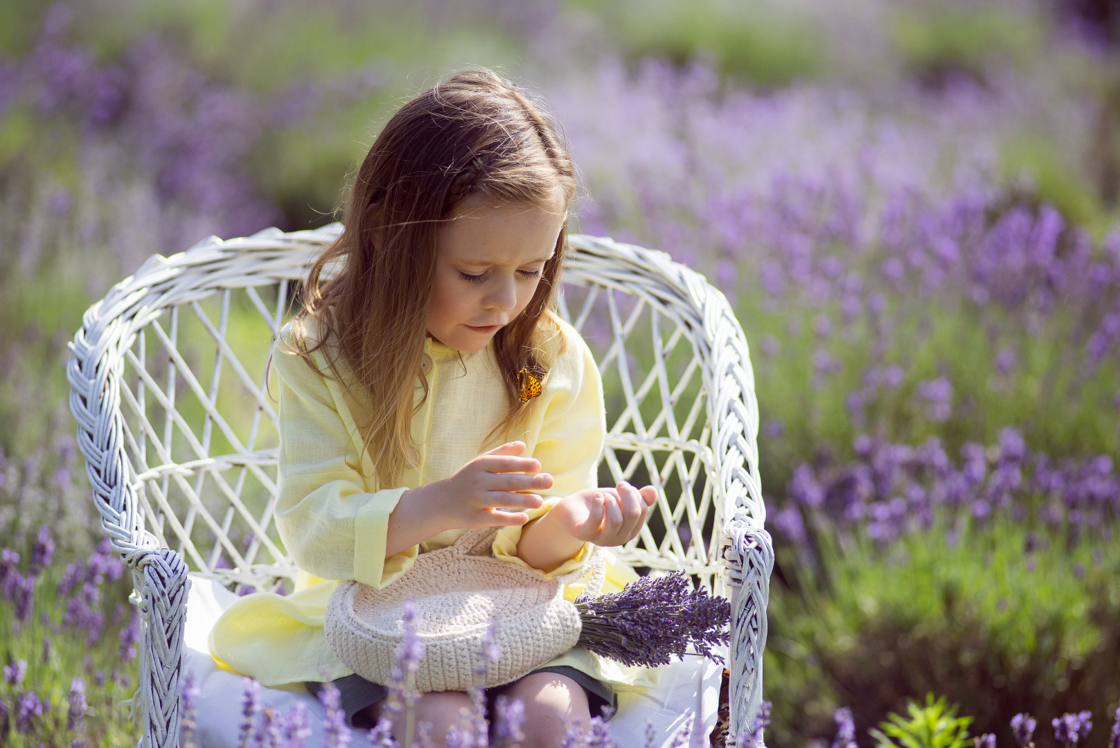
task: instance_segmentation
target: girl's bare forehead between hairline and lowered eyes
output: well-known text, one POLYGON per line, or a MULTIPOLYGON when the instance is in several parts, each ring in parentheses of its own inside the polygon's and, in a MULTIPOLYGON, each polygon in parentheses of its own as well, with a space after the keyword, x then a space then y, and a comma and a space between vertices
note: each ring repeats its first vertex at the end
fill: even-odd
POLYGON ((437 232, 440 260, 524 264, 552 255, 566 213, 538 205, 468 204, 437 232))

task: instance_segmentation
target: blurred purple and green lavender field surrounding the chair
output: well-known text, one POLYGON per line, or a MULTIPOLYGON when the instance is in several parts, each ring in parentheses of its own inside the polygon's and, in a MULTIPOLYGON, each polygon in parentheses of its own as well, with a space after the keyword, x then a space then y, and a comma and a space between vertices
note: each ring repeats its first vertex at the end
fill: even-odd
POLYGON ((767 744, 886 745, 928 693, 1001 748, 1020 713, 1038 748, 1116 748, 1120 8, 1092 0, 0 4, 0 744, 138 736, 66 404, 84 309, 155 252, 329 223, 379 124, 465 64, 550 102, 579 231, 737 310, 767 744))

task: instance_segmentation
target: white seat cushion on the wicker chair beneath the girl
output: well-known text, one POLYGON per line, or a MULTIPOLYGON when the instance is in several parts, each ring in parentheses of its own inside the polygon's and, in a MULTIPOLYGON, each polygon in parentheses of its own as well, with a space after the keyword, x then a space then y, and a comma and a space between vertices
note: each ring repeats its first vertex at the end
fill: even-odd
MULTIPOLYGON (((194 675, 199 689, 197 700, 198 730, 195 741, 200 748, 236 748, 241 724, 241 700, 244 686, 241 676, 218 670, 206 645, 209 630, 222 611, 236 596, 208 579, 190 577, 187 598, 187 625, 184 637, 183 667, 194 675)), ((719 709, 719 686, 724 668, 703 657, 673 661, 661 667, 656 689, 618 690, 618 713, 610 720, 610 736, 622 746, 646 745, 646 721, 653 723, 656 746, 668 745, 689 718, 694 719, 692 748, 706 748, 708 736, 716 726, 719 709)), ((287 714, 297 701, 307 704, 311 714, 312 735, 308 746, 323 744, 323 707, 318 699, 301 686, 291 690, 265 689, 261 704, 287 714)), ((364 745, 365 730, 353 730, 353 738, 364 745)))

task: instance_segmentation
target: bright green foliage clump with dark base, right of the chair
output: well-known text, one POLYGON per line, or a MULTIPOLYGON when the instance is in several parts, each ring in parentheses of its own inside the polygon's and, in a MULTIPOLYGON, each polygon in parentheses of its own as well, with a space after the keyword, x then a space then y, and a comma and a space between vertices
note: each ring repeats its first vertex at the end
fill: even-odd
POLYGON ((879 549, 821 530, 819 565, 778 548, 765 655, 775 745, 831 738, 837 707, 864 730, 926 693, 950 694, 999 745, 1020 711, 1045 723, 1114 710, 1114 542, 1000 522, 935 524, 879 549))

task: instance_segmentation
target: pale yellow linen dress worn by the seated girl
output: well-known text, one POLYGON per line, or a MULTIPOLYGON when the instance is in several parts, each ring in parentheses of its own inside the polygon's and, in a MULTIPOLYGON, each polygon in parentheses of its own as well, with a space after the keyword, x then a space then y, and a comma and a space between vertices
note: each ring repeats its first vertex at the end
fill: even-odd
MULTIPOLYGON (((542 325, 545 324, 542 320, 542 325)), ((417 383, 419 408, 412 418, 417 467, 401 485, 377 484, 363 449, 361 405, 346 389, 320 376, 299 356, 287 353, 292 326, 280 331, 272 366, 279 380, 280 498, 276 522, 290 558, 300 569, 296 590, 284 597, 258 592, 234 602, 209 636, 218 666, 250 675, 264 685, 334 680, 351 671, 327 646, 323 616, 338 580, 354 579, 382 588, 408 570, 418 553, 452 544, 464 532, 449 530, 407 551, 385 558, 389 515, 409 488, 449 477, 496 445, 485 443, 491 428, 507 408, 507 395, 493 346, 460 353, 428 339, 422 376, 428 396, 417 383)), ((544 350, 548 375, 531 409, 523 456, 535 457, 552 475, 544 503, 529 512, 530 521, 569 494, 598 485, 596 469, 606 422, 603 385, 587 344, 569 325, 558 321, 544 350)), ((323 350, 311 354, 320 371, 329 371, 323 350)), ((345 374, 344 374, 345 376, 345 374)), ((517 558, 523 527, 504 527, 493 544, 494 557, 532 569, 517 558)), ((544 577, 576 568, 584 549, 544 577)), ((637 579, 634 571, 607 553, 604 592, 637 579)), ((582 585, 569 585, 575 599, 582 585)), ((619 689, 656 685, 656 670, 626 667, 575 647, 547 665, 570 665, 619 689)))

